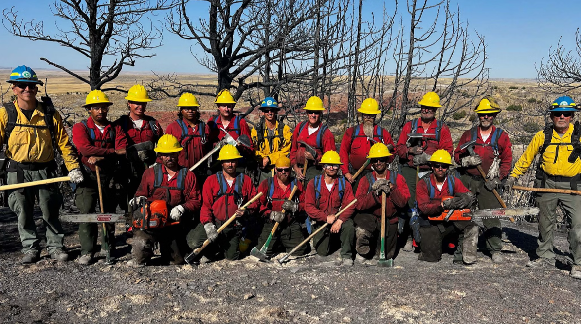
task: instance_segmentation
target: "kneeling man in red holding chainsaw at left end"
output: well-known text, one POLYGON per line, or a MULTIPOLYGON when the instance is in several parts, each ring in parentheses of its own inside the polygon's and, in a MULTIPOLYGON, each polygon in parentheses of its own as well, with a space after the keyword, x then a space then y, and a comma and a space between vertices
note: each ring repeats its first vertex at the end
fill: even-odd
POLYGON ((139 219, 139 214, 142 213, 142 200, 146 200, 148 204, 163 201, 169 212, 169 215, 164 215, 168 218, 167 221, 179 223, 134 230, 134 237, 131 239, 134 258, 128 262, 130 265, 146 264, 153 257, 155 243, 159 243, 164 263, 184 262, 187 252, 185 237, 192 228, 188 225, 191 225, 193 212, 199 211, 202 206, 202 195, 196 184, 196 176, 178 163, 178 155, 182 149, 173 135, 166 134, 159 139, 155 151, 162 163, 145 170, 137 189, 137 198, 131 201, 136 211, 134 219, 139 219))

